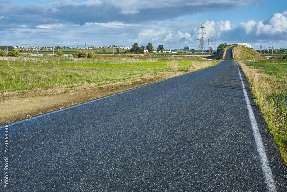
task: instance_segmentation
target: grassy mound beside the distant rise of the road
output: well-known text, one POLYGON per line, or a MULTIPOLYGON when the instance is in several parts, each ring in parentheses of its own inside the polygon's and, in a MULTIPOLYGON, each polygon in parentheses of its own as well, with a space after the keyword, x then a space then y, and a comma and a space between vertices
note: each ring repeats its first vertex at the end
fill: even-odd
POLYGON ((238 61, 250 61, 250 60, 261 60, 266 59, 261 56, 257 51, 244 45, 238 45, 233 48, 233 59, 238 61), (235 59, 236 54, 236 59, 235 59))

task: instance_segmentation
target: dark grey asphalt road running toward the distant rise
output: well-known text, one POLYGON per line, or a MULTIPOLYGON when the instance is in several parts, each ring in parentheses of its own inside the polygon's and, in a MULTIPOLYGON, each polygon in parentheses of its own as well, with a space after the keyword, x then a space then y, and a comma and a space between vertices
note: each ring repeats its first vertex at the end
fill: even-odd
POLYGON ((286 167, 230 52, 216 66, 10 123, 7 153, 2 126, 9 191, 287 191, 286 167))

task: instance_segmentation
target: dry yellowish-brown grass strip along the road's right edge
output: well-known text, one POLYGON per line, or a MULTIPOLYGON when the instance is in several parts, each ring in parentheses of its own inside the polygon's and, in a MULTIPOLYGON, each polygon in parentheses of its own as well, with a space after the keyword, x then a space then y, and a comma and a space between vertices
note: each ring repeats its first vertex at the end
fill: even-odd
POLYGON ((281 153, 282 159, 287 165, 287 138, 282 130, 282 125, 286 127, 287 118, 280 114, 280 110, 272 100, 267 99, 268 94, 280 93, 282 87, 286 85, 282 81, 276 81, 276 77, 272 78, 272 76, 269 75, 267 77, 266 74, 258 73, 256 69, 246 66, 245 63, 239 62, 239 66, 249 82, 255 102, 281 153))

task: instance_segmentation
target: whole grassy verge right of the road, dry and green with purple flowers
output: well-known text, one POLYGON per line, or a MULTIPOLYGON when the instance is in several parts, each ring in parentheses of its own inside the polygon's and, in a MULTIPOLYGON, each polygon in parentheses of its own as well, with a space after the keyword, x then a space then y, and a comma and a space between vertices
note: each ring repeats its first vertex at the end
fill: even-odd
POLYGON ((268 59, 239 65, 287 165, 287 60, 268 59))

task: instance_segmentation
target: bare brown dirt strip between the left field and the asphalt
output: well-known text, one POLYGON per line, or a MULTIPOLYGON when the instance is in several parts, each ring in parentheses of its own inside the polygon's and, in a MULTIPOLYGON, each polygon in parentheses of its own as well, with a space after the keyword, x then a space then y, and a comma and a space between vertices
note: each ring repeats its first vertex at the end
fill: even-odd
POLYGON ((40 95, 35 97, 35 94, 37 93, 32 92, 30 95, 25 96, 3 97, 0 99, 0 125, 139 87, 143 84, 168 79, 181 74, 182 73, 166 74, 159 77, 139 79, 133 83, 121 86, 70 90, 70 92, 63 92, 60 94, 40 95))

